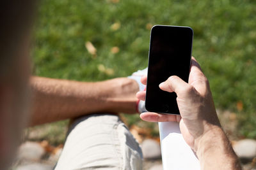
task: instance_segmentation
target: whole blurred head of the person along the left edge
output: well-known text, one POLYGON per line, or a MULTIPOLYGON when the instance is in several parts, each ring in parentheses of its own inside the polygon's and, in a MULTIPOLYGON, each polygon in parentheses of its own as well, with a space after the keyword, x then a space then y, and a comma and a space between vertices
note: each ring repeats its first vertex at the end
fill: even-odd
POLYGON ((0 169, 12 162, 26 120, 33 0, 0 3, 0 169))

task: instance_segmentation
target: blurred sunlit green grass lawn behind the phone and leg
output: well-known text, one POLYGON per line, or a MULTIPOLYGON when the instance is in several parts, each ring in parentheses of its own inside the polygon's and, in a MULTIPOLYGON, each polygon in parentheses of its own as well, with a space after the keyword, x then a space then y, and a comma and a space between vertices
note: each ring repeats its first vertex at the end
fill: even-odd
POLYGON ((33 72, 79 81, 128 76, 147 66, 147 24, 187 25, 194 29, 193 55, 209 78, 216 107, 237 113, 239 136, 256 138, 255 13, 253 0, 44 0, 35 27, 33 72), (120 28, 113 31, 115 23, 120 28), (97 57, 88 53, 86 41, 97 48, 97 57), (113 46, 120 52, 111 53, 113 46), (114 73, 100 71, 99 64, 114 73))

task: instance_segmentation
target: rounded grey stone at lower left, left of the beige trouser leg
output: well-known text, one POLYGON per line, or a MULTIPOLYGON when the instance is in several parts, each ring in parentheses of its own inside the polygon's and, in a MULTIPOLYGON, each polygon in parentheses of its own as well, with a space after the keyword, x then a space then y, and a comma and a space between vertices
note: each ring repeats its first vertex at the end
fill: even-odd
POLYGON ((17 159, 40 160, 44 154, 45 150, 39 143, 27 141, 20 145, 17 159))

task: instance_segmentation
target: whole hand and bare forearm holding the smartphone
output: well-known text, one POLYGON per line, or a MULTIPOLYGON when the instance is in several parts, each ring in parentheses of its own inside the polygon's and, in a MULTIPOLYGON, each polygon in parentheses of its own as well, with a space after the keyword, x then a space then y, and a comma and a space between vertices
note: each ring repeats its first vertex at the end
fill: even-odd
MULTIPOLYGON (((147 77, 141 78, 143 84, 147 77)), ((159 85, 166 92, 177 94, 180 115, 163 115, 152 112, 141 113, 148 122, 170 122, 180 124, 180 131, 186 143, 193 148, 200 160, 202 169, 241 169, 230 142, 221 129, 209 87, 209 81, 202 73, 198 62, 192 58, 189 82, 178 76, 170 76, 159 85), (212 159, 218 164, 212 166, 212 159)), ((145 100, 145 91, 136 94, 145 100)), ((172 151, 170 151, 172 152, 172 151)))

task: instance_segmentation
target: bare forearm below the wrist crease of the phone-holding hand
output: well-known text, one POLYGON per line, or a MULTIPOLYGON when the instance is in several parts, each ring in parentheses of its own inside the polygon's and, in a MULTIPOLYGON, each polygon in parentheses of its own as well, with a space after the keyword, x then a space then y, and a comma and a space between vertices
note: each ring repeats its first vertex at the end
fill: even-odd
POLYGON ((207 132, 198 143, 196 152, 202 169, 241 169, 225 132, 220 127, 207 132))

